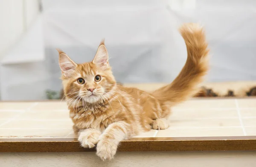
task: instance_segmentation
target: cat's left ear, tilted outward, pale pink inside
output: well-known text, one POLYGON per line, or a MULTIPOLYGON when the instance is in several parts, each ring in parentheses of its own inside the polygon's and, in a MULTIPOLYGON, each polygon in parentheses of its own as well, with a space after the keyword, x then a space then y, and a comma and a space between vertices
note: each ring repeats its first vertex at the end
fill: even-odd
POLYGON ((67 54, 63 51, 57 49, 59 52, 59 65, 61 68, 62 75, 65 77, 70 77, 76 71, 77 64, 70 59, 67 54))

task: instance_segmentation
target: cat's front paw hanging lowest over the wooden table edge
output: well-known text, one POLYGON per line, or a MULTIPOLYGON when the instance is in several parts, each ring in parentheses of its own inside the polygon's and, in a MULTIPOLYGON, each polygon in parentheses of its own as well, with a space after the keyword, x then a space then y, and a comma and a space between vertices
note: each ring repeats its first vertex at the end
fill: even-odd
POLYGON ((110 141, 100 140, 97 144, 97 156, 103 161, 114 158, 117 150, 117 145, 110 141))

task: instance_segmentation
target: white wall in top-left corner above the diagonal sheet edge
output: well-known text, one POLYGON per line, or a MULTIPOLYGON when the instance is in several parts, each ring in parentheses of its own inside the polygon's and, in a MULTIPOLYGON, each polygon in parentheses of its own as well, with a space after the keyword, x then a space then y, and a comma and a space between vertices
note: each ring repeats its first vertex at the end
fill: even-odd
POLYGON ((0 58, 22 37, 38 13, 38 0, 0 1, 0 58))

